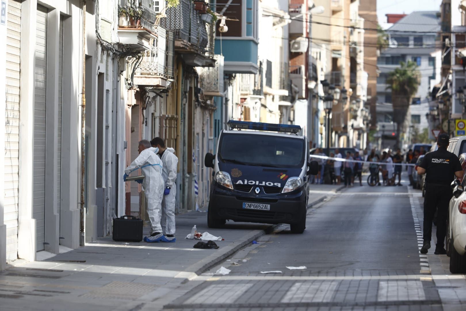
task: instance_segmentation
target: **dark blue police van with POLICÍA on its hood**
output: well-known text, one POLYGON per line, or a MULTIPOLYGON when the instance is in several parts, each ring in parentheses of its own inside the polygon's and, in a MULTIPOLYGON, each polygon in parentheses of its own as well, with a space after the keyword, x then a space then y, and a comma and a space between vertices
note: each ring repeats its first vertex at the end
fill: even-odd
POLYGON ((309 161, 308 141, 301 127, 228 121, 220 132, 217 154, 204 163, 213 168, 207 224, 226 220, 287 223, 292 233, 306 228, 309 175, 318 164, 309 161))

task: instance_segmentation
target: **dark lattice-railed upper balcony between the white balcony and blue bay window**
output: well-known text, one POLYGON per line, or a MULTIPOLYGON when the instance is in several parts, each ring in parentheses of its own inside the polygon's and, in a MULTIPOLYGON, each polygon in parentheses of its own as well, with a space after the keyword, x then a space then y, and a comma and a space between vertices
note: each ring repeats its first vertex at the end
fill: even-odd
POLYGON ((160 24, 174 32, 175 51, 186 64, 193 67, 212 67, 213 25, 204 23, 190 0, 180 0, 177 7, 165 11, 166 17, 160 24))

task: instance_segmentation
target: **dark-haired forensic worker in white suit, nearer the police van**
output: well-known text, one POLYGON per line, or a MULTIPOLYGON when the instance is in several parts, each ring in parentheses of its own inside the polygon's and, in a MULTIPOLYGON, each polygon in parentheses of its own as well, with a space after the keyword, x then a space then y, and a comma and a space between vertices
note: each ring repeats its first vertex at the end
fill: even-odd
POLYGON ((175 197, 176 175, 178 170, 178 158, 175 149, 165 147, 164 140, 156 137, 151 140, 152 147, 158 148, 158 154, 162 159, 162 177, 164 178, 164 198, 162 200, 162 228, 164 239, 162 242, 175 242, 175 197))

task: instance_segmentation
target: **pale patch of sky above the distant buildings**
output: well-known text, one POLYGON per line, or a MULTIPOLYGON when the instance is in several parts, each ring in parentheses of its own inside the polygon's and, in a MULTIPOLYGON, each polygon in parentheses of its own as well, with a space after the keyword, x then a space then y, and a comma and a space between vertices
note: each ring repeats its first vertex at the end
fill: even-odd
POLYGON ((385 14, 410 14, 413 11, 439 11, 442 0, 377 0, 377 19, 383 25, 385 14))

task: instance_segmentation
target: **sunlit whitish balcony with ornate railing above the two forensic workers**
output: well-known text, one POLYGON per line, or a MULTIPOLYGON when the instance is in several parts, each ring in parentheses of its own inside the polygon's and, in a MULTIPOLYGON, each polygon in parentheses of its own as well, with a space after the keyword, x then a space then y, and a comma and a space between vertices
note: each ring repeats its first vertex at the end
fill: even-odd
POLYGON ((153 40, 152 46, 144 52, 143 60, 134 72, 134 83, 165 88, 167 77, 173 76, 173 52, 167 53, 173 45, 173 35, 171 31, 166 31, 161 26, 156 26, 155 32, 157 40, 153 40))

